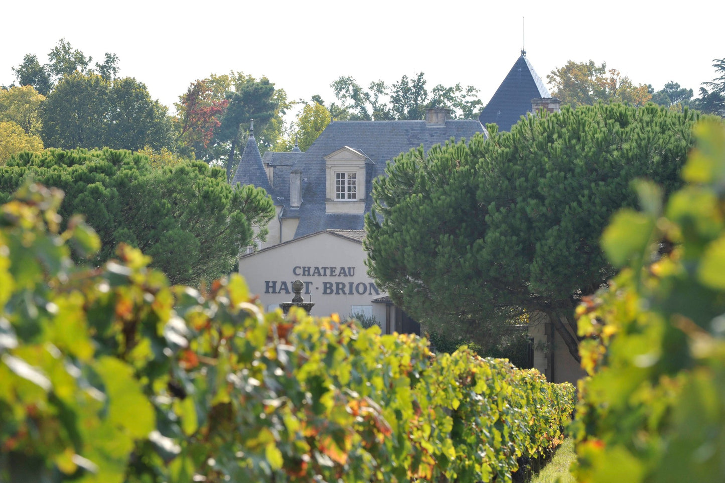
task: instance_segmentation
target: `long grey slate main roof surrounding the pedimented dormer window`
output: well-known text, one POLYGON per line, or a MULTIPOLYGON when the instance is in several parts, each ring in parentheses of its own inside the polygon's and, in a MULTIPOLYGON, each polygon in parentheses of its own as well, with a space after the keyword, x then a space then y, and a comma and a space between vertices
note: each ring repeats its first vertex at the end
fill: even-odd
MULTIPOLYGON (((283 205, 282 218, 299 218, 294 238, 324 230, 362 230, 363 215, 326 213, 325 157, 349 146, 365 154, 365 212, 372 207, 370 191, 373 178, 384 174, 386 162, 402 152, 423 145, 428 151, 434 144, 471 139, 484 133, 479 120, 446 120, 444 124, 427 124, 424 120, 402 121, 334 121, 305 152, 265 152, 263 161, 274 168, 272 193, 276 203, 283 205), (289 173, 302 172, 302 205, 289 205, 289 173)), ((256 146, 256 145, 255 145, 256 146)), ((246 153, 245 153, 246 154, 246 153)), ((237 170, 234 181, 249 183, 237 170)))

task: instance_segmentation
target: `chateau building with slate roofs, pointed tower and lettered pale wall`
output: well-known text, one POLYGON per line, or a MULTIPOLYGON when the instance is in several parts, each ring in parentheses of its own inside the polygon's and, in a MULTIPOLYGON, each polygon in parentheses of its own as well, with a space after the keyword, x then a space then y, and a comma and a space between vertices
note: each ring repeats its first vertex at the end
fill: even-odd
MULTIPOLYGON (((305 284, 305 302, 315 303, 312 315, 359 313, 374 317, 384 333, 419 332, 420 326, 394 307, 367 274, 362 242, 365 213, 373 205, 373 179, 383 176, 386 164, 402 152, 419 146, 427 152, 435 144, 468 140, 476 133, 488 136, 486 123, 509 131, 521 116, 541 107, 558 110, 558 99, 550 96, 521 51, 478 119, 449 119, 447 110, 433 109, 425 120, 333 121, 307 151, 294 146, 291 152, 264 156, 250 129, 232 183, 264 188, 276 206, 267 240, 239 260, 250 291, 269 310, 291 300, 291 283, 299 279, 305 284)), ((537 341, 555 344, 552 331, 536 331, 537 341)), ((554 376, 553 352, 537 353, 534 360, 554 376)))

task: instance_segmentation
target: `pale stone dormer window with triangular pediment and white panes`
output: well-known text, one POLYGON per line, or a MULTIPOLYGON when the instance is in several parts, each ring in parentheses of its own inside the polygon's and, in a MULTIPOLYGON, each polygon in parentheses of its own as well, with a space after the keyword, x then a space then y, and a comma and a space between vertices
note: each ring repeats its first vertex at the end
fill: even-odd
POLYGON ((364 152, 349 146, 325 157, 326 212, 365 212, 365 165, 369 162, 364 152))

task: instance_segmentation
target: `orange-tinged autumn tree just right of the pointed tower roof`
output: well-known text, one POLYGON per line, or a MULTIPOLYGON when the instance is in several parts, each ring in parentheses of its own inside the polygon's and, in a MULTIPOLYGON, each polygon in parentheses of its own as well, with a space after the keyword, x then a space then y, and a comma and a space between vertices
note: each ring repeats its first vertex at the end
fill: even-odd
POLYGON ((547 76, 552 96, 571 107, 592 105, 597 102, 627 102, 642 106, 652 98, 648 86, 635 86, 629 77, 622 77, 616 69, 607 69, 607 63, 568 61, 564 67, 552 70, 547 76))

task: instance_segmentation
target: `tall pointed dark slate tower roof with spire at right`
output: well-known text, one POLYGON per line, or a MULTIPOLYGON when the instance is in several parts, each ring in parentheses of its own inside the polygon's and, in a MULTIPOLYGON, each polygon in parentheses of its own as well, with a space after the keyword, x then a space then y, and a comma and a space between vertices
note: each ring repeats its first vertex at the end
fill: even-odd
POLYGON ((521 116, 531 112, 531 99, 542 97, 551 97, 551 94, 522 50, 521 57, 481 111, 479 120, 482 125, 496 123, 499 131, 510 131, 521 116))

